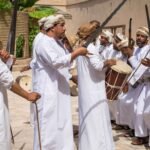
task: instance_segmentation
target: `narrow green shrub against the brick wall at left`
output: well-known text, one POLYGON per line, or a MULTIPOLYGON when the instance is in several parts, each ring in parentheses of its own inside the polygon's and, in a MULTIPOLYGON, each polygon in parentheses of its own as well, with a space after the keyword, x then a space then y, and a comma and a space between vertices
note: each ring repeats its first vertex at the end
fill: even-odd
POLYGON ((24 35, 20 34, 16 40, 16 57, 23 57, 23 48, 25 44, 24 35))

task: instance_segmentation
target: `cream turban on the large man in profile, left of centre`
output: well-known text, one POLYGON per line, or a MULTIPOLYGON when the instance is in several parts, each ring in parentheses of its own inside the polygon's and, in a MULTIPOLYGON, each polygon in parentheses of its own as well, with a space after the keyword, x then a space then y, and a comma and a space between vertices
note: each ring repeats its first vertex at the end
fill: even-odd
POLYGON ((44 29, 47 30, 59 23, 65 23, 65 18, 63 15, 49 16, 47 17, 47 21, 44 23, 44 29))

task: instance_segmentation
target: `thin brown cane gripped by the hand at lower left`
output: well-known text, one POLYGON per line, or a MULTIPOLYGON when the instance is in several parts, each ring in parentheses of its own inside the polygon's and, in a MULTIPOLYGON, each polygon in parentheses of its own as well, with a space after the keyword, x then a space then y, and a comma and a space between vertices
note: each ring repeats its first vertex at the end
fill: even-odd
POLYGON ((37 106, 36 102, 34 102, 34 104, 35 104, 35 110, 36 110, 36 120, 37 120, 37 127, 38 127, 39 146, 40 146, 40 150, 42 150, 38 106, 37 106))

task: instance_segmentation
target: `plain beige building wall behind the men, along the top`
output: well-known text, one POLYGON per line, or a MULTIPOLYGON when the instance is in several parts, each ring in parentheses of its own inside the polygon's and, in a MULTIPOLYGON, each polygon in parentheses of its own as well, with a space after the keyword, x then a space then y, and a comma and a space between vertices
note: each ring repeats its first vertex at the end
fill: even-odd
MULTIPOLYGON (((41 0, 41 2, 44 0, 41 0)), ((53 0, 45 0, 51 4, 53 0)), ((54 0, 55 1, 55 0, 54 0)), ((72 15, 72 19, 67 20, 67 32, 73 34, 77 28, 85 22, 97 19, 103 22, 105 18, 116 8, 122 0, 62 0, 66 5, 56 5, 56 7, 72 15), (70 3, 69 3, 70 1, 70 3), (82 3, 79 3, 82 2, 82 3)), ((124 6, 117 12, 112 20, 107 24, 126 25, 126 34, 128 30, 129 18, 133 19, 133 37, 139 26, 147 26, 145 15, 145 4, 150 8, 150 0, 127 0, 124 6)), ((53 3, 53 5, 55 5, 53 3)), ((149 9, 150 11, 150 9, 149 9)))

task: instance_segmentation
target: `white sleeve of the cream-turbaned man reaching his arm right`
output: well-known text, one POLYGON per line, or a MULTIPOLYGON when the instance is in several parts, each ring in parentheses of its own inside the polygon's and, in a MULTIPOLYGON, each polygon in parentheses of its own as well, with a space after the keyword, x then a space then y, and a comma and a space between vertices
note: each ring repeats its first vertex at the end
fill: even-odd
POLYGON ((37 55, 44 64, 56 69, 70 66, 71 54, 60 56, 57 52, 59 46, 52 42, 50 43, 50 41, 43 40, 42 42, 37 50, 37 55))

